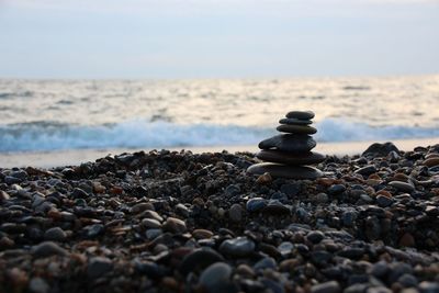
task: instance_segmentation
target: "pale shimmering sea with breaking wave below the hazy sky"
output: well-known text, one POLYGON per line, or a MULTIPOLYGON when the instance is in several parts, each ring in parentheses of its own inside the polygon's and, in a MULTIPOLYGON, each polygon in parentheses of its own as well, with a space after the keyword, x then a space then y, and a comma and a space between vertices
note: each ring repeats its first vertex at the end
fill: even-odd
POLYGON ((291 110, 315 112, 317 143, 439 137, 439 75, 0 79, 0 153, 252 145, 291 110))

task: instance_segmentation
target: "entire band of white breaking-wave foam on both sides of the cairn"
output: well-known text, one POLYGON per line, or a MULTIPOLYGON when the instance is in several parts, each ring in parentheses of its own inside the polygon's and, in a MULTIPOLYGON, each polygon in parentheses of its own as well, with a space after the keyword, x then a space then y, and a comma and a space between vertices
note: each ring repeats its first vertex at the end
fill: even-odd
MULTIPOLYGON (((439 137, 438 127, 373 127, 342 119, 327 119, 316 127, 318 133, 314 137, 317 142, 439 137)), ((99 126, 40 122, 0 126, 0 151, 252 145, 274 134, 271 127, 179 125, 143 120, 99 126)))

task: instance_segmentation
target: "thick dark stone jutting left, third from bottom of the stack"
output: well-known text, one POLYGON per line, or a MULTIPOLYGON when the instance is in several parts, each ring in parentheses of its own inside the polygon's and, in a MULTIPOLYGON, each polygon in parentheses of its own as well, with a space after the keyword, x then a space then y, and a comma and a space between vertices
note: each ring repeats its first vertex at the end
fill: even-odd
POLYGON ((278 149, 291 153, 307 153, 316 146, 309 135, 281 134, 259 143, 260 149, 278 149))

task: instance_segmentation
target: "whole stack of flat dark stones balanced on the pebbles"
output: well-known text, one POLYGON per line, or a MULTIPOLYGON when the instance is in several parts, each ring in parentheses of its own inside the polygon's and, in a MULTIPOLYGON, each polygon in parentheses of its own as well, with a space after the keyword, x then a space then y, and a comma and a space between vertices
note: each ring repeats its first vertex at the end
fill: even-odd
POLYGON ((311 151, 316 142, 311 137, 317 132, 309 126, 314 117, 312 111, 291 111, 281 119, 277 127, 283 134, 259 143, 261 149, 256 157, 262 161, 250 166, 247 171, 254 174, 269 172, 273 178, 309 179, 322 176, 322 171, 307 166, 325 160, 322 154, 311 151))

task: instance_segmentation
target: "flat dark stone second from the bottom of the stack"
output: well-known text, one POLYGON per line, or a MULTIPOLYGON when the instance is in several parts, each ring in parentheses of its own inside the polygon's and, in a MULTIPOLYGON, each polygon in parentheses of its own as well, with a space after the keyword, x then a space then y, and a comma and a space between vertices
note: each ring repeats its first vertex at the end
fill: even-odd
POLYGON ((258 157, 258 159, 261 159, 263 161, 280 162, 294 166, 318 164, 325 160, 325 156, 318 153, 309 151, 309 153, 293 155, 291 153, 283 153, 280 150, 271 150, 271 149, 261 150, 258 154, 256 154, 256 157, 258 157))

